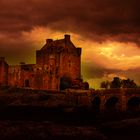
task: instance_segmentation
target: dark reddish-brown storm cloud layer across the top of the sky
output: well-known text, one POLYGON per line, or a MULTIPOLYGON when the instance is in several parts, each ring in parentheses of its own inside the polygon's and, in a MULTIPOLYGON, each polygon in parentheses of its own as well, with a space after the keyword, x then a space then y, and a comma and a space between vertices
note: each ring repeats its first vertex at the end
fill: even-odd
POLYGON ((96 41, 139 43, 139 0, 1 0, 0 32, 35 26, 71 31, 96 41))

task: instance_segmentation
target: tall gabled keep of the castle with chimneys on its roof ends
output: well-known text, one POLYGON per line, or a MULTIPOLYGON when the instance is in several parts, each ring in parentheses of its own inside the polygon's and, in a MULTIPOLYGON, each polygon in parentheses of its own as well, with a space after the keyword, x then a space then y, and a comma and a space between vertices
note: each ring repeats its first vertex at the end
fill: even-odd
POLYGON ((63 77, 72 80, 81 78, 81 48, 74 46, 70 35, 64 35, 64 39, 60 40, 47 39, 46 44, 36 51, 36 64, 50 67, 58 87, 63 77))

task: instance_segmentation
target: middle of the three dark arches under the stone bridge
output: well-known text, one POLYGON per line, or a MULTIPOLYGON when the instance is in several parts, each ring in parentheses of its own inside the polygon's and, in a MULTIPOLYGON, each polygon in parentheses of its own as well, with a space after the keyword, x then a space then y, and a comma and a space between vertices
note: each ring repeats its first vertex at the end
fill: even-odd
POLYGON ((118 97, 110 97, 106 100, 105 102, 105 111, 117 111, 118 110, 118 103, 119 103, 119 98, 118 97))

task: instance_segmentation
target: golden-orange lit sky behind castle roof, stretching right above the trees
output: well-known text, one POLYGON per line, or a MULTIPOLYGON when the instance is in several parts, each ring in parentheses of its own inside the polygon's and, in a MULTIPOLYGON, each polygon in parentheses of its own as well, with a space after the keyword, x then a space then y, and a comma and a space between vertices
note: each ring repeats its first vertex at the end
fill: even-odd
MULTIPOLYGON (((64 38, 64 34, 70 34, 72 42, 76 47, 82 48, 82 63, 90 62, 91 65, 98 65, 107 69, 127 70, 140 67, 140 49, 133 43, 120 43, 106 41, 103 43, 85 39, 78 34, 71 32, 53 31, 50 28, 35 27, 31 32, 23 32, 24 40, 34 46, 34 50, 40 49, 45 44, 45 39, 54 40, 64 38)), ((82 75, 86 73, 82 67, 82 75)), ((102 78, 88 79, 90 87, 99 88, 101 80, 110 79, 112 75, 105 75, 102 78)), ((118 75, 125 77, 124 75, 118 75)))

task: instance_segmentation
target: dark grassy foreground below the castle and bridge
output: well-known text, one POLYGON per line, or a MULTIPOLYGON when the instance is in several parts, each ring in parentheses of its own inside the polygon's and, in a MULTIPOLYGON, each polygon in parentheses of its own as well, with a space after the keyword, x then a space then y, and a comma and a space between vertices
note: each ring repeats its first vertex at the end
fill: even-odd
POLYGON ((0 94, 0 140, 15 139, 139 140, 140 112, 95 113, 63 95, 0 94))

